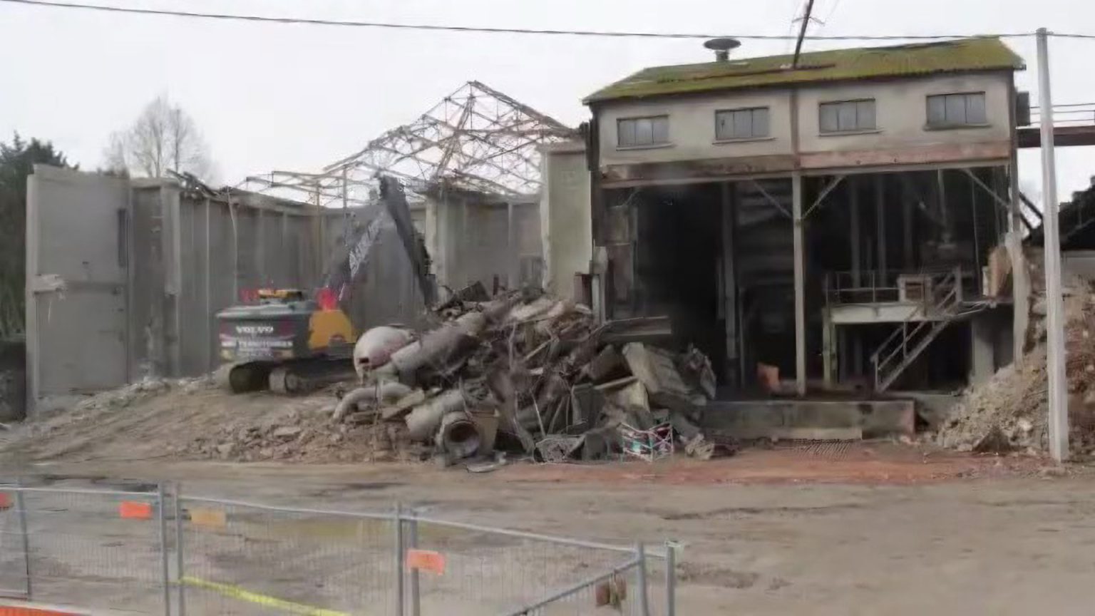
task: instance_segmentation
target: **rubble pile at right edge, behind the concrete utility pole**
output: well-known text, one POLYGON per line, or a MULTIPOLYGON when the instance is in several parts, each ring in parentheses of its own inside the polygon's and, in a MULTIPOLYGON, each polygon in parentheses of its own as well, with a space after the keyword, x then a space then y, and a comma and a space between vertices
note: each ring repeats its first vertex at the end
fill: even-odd
MULTIPOLYGON (((1036 303, 1035 313, 1045 303, 1036 303)), ((1070 441, 1076 455, 1095 454, 1095 295, 1085 284, 1073 286, 1064 300, 1065 378, 1070 441)), ((936 434, 937 444, 958 450, 1048 448, 1046 327, 1031 323, 1033 349, 1024 362, 1001 368, 988 381, 966 391, 936 434)))

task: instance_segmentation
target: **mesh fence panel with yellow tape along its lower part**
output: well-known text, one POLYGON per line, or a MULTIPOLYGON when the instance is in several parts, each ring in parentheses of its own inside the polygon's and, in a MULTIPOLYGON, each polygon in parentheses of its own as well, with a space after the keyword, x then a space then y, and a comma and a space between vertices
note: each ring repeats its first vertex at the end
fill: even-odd
POLYGON ((174 578, 186 613, 395 613, 392 520, 186 497, 181 505, 174 578))

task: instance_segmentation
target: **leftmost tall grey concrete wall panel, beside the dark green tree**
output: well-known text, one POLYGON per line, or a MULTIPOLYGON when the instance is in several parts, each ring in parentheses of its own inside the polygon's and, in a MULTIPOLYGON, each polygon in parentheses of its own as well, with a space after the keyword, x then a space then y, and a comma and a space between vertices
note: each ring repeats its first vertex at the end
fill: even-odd
POLYGON ((123 180, 35 166, 26 203, 28 409, 126 381, 123 180))

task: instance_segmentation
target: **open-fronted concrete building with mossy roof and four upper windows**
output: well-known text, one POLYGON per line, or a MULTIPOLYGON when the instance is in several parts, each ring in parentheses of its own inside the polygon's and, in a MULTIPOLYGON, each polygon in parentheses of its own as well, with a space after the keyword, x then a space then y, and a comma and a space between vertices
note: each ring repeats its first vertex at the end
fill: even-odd
POLYGON ((641 70, 545 149, 545 277, 669 315, 734 391, 987 378, 1026 328, 1024 68, 972 38, 641 70))

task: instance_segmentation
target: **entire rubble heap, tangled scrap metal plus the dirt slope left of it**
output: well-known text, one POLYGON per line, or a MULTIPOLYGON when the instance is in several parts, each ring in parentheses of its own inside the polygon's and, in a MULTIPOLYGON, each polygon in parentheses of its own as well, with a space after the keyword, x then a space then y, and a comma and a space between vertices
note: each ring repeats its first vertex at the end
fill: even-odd
POLYGON ((5 441, 45 457, 79 454, 94 438, 140 455, 320 464, 434 458, 474 472, 520 459, 707 459, 734 452, 698 427, 714 374, 701 352, 669 346, 667 319, 598 324, 570 301, 539 292, 488 297, 482 288, 458 292, 428 316, 430 328, 366 332, 357 346, 359 383, 286 397, 230 395, 212 377, 146 378, 21 424, 19 434, 4 431, 5 441))

